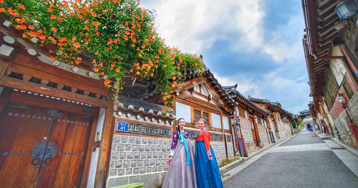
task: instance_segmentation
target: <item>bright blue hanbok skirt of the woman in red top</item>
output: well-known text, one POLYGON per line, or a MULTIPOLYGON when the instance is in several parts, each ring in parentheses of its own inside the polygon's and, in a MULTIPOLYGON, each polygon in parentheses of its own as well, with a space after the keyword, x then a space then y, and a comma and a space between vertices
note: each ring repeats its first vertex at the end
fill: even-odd
POLYGON ((195 141, 195 174, 198 188, 223 188, 218 162, 210 146, 213 160, 209 160, 204 141, 195 141))

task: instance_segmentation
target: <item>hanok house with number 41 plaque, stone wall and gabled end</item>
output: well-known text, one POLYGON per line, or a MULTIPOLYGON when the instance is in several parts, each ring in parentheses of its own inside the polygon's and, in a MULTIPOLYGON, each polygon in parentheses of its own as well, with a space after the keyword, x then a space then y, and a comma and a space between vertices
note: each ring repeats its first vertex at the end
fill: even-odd
POLYGON ((107 186, 145 182, 145 187, 159 187, 168 168, 168 158, 176 120, 184 118, 190 138, 197 138, 196 123, 205 119, 211 134, 211 146, 218 163, 234 157, 229 116, 233 101, 229 99, 213 74, 190 74, 174 88, 174 111, 164 115, 160 96, 153 95, 155 85, 125 87, 115 102, 111 157, 107 186), (128 124, 127 130, 121 129, 128 124), (117 126, 117 124, 119 126, 117 126))

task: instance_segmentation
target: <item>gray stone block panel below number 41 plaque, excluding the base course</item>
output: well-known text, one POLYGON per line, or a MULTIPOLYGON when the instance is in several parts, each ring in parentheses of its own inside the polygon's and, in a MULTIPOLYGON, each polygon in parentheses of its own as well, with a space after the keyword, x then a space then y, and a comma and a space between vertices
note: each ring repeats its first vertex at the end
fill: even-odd
POLYGON ((109 179, 166 172, 171 139, 113 135, 109 179))

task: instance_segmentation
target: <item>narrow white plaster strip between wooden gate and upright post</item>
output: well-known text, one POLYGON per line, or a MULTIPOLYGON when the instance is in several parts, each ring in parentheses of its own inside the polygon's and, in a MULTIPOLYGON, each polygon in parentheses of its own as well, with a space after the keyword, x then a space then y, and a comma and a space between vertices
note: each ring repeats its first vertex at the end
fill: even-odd
MULTIPOLYGON (((101 140, 101 135, 102 135, 103 122, 105 121, 105 112, 106 112, 106 109, 100 108, 100 113, 98 115, 97 128, 96 128, 96 133, 98 131, 101 131, 100 137, 99 137, 100 140, 101 140)), ((95 141, 97 141, 96 135, 95 135, 95 141)), ((91 165, 89 166, 89 172, 88 172, 87 188, 95 187, 95 176, 96 176, 99 150, 100 150, 100 148, 96 148, 96 151, 92 153, 91 165)))

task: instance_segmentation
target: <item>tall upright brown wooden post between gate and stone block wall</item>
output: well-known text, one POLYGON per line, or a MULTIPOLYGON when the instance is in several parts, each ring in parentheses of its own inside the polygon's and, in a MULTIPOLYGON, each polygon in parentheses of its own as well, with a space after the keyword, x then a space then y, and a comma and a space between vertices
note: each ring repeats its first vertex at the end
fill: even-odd
MULTIPOLYGON (((111 90, 110 95, 112 96, 114 93, 111 90)), ((108 100, 108 106, 105 113, 105 121, 103 123, 102 136, 101 136, 101 144, 98 155, 97 162, 97 170, 95 177, 95 187, 96 188, 104 188, 106 184, 106 174, 108 171, 108 158, 110 157, 111 150, 111 135, 114 130, 113 125, 113 108, 114 108, 114 100, 112 97, 108 100)))

